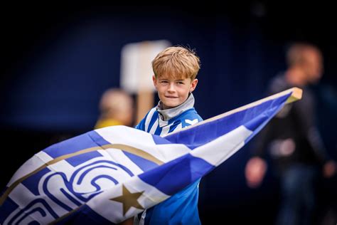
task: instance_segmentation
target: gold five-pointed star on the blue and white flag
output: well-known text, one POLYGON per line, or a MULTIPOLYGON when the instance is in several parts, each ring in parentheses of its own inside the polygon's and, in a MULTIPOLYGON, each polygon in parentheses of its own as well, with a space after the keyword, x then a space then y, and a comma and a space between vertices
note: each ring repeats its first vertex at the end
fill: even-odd
POLYGON ((121 202, 123 204, 123 216, 125 216, 125 214, 131 207, 137 209, 144 209, 143 206, 141 206, 137 200, 139 197, 141 197, 141 194, 143 193, 144 191, 131 193, 129 192, 127 187, 125 187, 124 184, 122 184, 122 196, 115 197, 110 200, 115 202, 121 202))

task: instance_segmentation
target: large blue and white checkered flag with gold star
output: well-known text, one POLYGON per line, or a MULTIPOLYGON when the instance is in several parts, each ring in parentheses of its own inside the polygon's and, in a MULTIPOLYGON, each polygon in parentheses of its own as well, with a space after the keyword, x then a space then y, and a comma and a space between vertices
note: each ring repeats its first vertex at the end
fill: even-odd
POLYGON ((291 88, 166 137, 114 126, 52 145, 7 184, 0 224, 124 221, 208 174, 300 98, 291 88))

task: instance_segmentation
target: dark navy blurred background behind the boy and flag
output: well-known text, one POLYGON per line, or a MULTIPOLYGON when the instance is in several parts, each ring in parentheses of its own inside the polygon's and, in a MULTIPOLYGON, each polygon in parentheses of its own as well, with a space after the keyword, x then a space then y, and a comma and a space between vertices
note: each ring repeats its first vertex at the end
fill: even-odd
MULTIPOLYGON (((102 93, 121 88, 123 47, 141 41, 166 40, 196 50, 201 69, 193 93, 204 119, 266 97, 269 80, 286 68, 287 46, 314 43, 324 57, 323 78, 312 87, 319 97, 319 130, 329 155, 337 159, 337 17, 332 6, 73 2, 1 8, 1 189, 36 152, 93 129, 102 93)), ((277 179, 267 172, 261 187, 247 187, 249 157, 250 143, 204 178, 199 206, 203 224, 274 223, 277 179)), ((317 224, 336 206, 337 191, 331 188, 336 176, 320 184, 317 224)))

